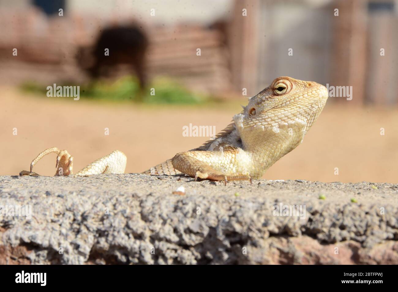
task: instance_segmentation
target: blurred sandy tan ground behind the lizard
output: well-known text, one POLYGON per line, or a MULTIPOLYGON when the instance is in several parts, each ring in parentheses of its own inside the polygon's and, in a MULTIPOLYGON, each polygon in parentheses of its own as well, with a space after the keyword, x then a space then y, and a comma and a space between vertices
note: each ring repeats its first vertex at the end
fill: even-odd
MULTIPOLYGON (((246 104, 242 99, 212 106, 137 106, 34 97, 3 85, 0 92, 0 175, 28 170, 39 152, 53 146, 74 156, 75 172, 114 149, 127 155, 126 172, 141 172, 207 140, 183 137, 183 126, 215 126, 218 132, 240 111, 240 103, 246 104)), ((397 108, 356 108, 329 101, 302 145, 264 178, 397 182, 397 127, 397 108)), ((55 155, 43 158, 35 171, 53 175, 55 155)))

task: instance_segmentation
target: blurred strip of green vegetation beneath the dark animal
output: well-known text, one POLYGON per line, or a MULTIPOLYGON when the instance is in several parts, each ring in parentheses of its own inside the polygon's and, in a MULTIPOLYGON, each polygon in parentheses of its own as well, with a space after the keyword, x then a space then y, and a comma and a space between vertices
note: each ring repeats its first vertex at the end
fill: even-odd
MULTIPOLYGON (((57 83, 57 86, 64 85, 80 85, 80 99, 101 99, 107 101, 131 100, 148 104, 201 104, 211 100, 209 95, 193 93, 167 78, 154 79, 142 91, 139 89, 137 79, 131 76, 122 77, 117 80, 101 79, 91 81, 88 84, 76 84, 76 82, 57 83)), ((25 83, 21 85, 21 89, 47 96, 47 86, 37 83, 25 83)))

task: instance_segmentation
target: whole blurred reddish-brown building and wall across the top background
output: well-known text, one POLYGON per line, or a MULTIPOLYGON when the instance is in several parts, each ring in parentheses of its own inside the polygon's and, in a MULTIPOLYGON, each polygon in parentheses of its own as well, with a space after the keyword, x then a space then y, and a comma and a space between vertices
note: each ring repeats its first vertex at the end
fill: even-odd
POLYGON ((397 0, 50 2, 0 0, 3 82, 81 80, 77 48, 92 45, 103 27, 134 22, 150 39, 150 77, 215 94, 246 88, 250 96, 288 75, 352 86, 351 104, 398 102, 397 0), (35 64, 31 73, 22 63, 35 64))

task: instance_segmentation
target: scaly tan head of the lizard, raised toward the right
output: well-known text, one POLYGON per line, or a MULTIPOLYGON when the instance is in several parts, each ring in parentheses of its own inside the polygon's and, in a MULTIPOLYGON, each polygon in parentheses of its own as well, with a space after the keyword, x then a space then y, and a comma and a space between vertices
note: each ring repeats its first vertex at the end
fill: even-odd
POLYGON ((258 95, 251 97, 244 107, 244 119, 262 126, 300 121, 305 130, 312 126, 322 111, 328 91, 314 81, 302 81, 291 77, 278 77, 258 95))

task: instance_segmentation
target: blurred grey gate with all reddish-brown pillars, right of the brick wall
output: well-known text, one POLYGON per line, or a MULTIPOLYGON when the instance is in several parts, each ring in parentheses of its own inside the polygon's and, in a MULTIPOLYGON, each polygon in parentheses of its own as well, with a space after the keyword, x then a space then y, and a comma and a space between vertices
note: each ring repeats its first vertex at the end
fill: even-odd
POLYGON ((398 1, 237 0, 234 14, 236 89, 247 85, 253 95, 288 75, 352 86, 352 103, 398 102, 398 1), (238 17, 245 7, 256 16, 238 17))

